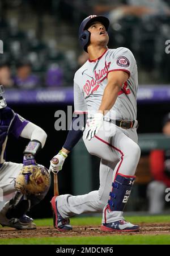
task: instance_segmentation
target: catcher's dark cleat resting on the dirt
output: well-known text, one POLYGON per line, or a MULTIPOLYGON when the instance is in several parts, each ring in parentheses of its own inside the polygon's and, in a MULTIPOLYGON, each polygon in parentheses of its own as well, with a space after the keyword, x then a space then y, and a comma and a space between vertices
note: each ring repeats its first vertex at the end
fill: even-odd
POLYGON ((29 218, 27 215, 23 215, 20 218, 10 218, 6 217, 6 212, 8 210, 8 202, 5 207, 0 212, 0 224, 2 226, 10 226, 10 228, 15 228, 19 230, 23 229, 36 229, 36 224, 33 223, 33 219, 29 218))

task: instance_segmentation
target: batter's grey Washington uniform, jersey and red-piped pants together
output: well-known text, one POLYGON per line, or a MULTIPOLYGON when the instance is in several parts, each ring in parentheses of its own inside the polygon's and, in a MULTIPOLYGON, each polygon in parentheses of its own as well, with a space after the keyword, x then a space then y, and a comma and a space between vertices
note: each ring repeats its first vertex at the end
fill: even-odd
MULTIPOLYGON (((84 112, 91 114, 99 109, 105 86, 108 83, 108 73, 112 71, 125 71, 129 74, 129 79, 122 85, 109 114, 116 112, 116 119, 133 120, 137 118, 137 64, 131 51, 123 47, 108 49, 98 59, 88 60, 75 73, 75 114, 84 112)), ((99 190, 85 195, 58 196, 59 213, 62 217, 67 218, 74 214, 103 211, 103 224, 124 220, 122 210, 109 210, 108 199, 117 174, 135 177, 133 175, 141 154, 137 144, 137 129, 126 130, 117 127, 114 123, 105 122, 105 129, 100 129, 90 141, 85 138, 87 129, 88 124, 86 124, 83 134, 87 151, 91 155, 101 158, 100 187, 99 190), (109 131, 108 134, 105 131, 109 131)))

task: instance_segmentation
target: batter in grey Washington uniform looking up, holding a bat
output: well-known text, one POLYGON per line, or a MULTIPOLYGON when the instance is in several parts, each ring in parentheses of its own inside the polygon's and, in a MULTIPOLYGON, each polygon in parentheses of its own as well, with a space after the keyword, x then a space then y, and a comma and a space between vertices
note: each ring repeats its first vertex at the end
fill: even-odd
POLYGON ((74 76, 72 129, 50 162, 51 171, 61 170, 67 154, 83 136, 88 152, 101 158, 100 187, 86 195, 52 198, 55 227, 60 231, 72 229, 69 217, 90 212, 103 212, 101 230, 105 232, 139 230, 123 216, 141 155, 137 144, 137 64, 129 49, 108 49, 108 27, 109 20, 96 15, 80 24, 79 42, 89 59, 74 76), (87 113, 85 129, 74 129, 77 118, 82 118, 83 126, 87 113))

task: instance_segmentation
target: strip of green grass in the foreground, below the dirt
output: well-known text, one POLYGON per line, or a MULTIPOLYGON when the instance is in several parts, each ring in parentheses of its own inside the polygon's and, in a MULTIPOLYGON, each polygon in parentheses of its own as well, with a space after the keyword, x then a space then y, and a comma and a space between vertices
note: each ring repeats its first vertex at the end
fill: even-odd
POLYGON ((167 245, 170 236, 155 235, 114 235, 103 237, 42 237, 42 238, 10 238, 0 241, 3 245, 167 245))

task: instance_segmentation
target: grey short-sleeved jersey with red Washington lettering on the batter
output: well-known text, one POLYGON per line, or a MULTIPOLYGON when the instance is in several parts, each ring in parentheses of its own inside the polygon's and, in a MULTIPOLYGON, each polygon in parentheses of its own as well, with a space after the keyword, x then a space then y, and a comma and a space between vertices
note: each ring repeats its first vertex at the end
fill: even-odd
POLYGON ((74 113, 97 112, 101 104, 108 73, 125 71, 129 79, 122 85, 117 100, 106 117, 137 118, 138 71, 133 53, 124 47, 107 49, 96 60, 87 60, 74 76, 74 113))

